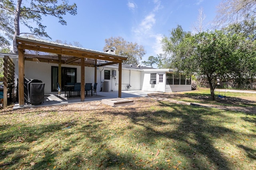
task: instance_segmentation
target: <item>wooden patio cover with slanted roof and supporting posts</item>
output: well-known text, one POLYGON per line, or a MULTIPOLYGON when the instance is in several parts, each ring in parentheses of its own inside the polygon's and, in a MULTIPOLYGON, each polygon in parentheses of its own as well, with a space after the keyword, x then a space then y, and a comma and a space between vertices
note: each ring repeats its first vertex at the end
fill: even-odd
MULTIPOLYGON (((40 61, 47 63, 58 63, 59 71, 61 64, 80 65, 81 66, 81 87, 84 87, 84 67, 91 66, 95 68, 95 75, 98 66, 118 64, 119 82, 118 97, 121 98, 122 84, 122 61, 127 57, 113 55, 100 51, 75 47, 66 44, 55 43, 30 37, 16 36, 19 55, 19 106, 24 106, 24 61, 40 61), (26 50, 32 50, 31 54, 25 54, 26 50), (108 63, 97 64, 97 60, 108 61, 108 63)), ((60 82, 61 75, 58 77, 60 82)), ((96 81, 96 76, 95 76, 96 81)), ((81 101, 84 101, 84 88, 81 88, 81 101)))

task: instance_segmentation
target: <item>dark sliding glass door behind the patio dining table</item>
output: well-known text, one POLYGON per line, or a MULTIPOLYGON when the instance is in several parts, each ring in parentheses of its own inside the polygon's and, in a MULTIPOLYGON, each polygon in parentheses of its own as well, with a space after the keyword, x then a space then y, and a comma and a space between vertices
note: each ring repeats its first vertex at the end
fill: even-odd
MULTIPOLYGON (((52 92, 57 91, 57 82, 58 82, 59 69, 58 66, 52 66, 52 77, 51 77, 51 90, 52 92)), ((61 67, 61 88, 64 88, 64 85, 67 83, 76 82, 76 68, 70 67, 61 67)))

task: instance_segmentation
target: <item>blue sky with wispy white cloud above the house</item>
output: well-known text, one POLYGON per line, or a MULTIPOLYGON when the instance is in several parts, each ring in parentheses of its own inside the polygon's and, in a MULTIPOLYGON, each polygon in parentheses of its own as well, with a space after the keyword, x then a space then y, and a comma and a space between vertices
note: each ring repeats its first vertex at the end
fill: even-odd
POLYGON ((54 17, 43 18, 52 41, 78 41, 84 48, 103 51, 105 39, 121 36, 144 46, 144 61, 162 53, 162 37, 178 24, 192 31, 199 8, 206 16, 205 25, 210 24, 221 0, 69 0, 74 2, 78 14, 64 16, 67 25, 54 17))

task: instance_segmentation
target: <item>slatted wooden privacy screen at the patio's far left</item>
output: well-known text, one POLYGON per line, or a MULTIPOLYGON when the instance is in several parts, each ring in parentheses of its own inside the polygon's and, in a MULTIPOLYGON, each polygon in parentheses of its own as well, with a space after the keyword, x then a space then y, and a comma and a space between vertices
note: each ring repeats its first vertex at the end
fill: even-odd
POLYGON ((7 97, 9 93, 10 101, 14 97, 14 63, 8 56, 4 56, 4 101, 3 107, 7 107, 7 97))

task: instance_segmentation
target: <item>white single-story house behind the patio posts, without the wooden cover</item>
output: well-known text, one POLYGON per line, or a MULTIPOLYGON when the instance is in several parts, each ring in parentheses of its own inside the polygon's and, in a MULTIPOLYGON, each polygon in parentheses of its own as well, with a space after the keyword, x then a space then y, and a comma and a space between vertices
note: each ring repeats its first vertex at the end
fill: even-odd
MULTIPOLYGON (((18 78, 18 55, 10 56, 15 64, 15 80, 18 78)), ((105 61, 98 61, 106 63, 105 61)), ((25 78, 45 83, 46 94, 56 93, 58 64, 25 61, 25 78)), ((81 82, 80 66, 62 65, 62 83, 81 82)), ((97 67, 97 91, 118 91, 118 64, 97 67)), ((85 67, 85 82, 94 82, 94 68, 85 67)), ((15 82, 17 84, 17 81, 15 82)), ((15 85, 16 86, 16 85, 15 85)), ((175 74, 171 69, 155 69, 122 64, 122 90, 148 90, 156 92, 179 92, 191 90, 191 76, 175 74)))

